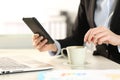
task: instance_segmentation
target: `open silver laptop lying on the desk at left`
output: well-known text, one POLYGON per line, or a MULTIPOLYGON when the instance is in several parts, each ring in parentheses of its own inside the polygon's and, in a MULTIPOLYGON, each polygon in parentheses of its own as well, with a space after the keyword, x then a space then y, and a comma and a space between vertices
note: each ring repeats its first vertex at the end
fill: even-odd
POLYGON ((0 75, 50 69, 53 69, 52 65, 32 58, 26 61, 17 61, 11 57, 0 57, 0 75))

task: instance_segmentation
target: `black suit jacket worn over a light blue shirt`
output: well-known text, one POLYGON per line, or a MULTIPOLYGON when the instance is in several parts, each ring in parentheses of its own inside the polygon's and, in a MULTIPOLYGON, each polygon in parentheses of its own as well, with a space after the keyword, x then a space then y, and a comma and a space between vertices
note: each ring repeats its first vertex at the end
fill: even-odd
MULTIPOLYGON (((71 45, 83 45, 84 35, 90 28, 96 27, 94 22, 94 13, 96 7, 96 0, 81 0, 81 4, 78 9, 77 18, 75 21, 72 36, 58 40, 61 47, 71 46, 71 45)), ((120 1, 118 0, 115 7, 115 12, 112 16, 110 23, 110 30, 118 35, 120 35, 120 1)), ((117 46, 113 45, 98 45, 97 51, 94 54, 103 55, 117 63, 120 63, 120 53, 118 52, 117 46), (101 48, 105 49, 104 51, 101 48), (102 52, 101 52, 102 51, 102 52), (107 55, 106 55, 107 54, 107 55)))

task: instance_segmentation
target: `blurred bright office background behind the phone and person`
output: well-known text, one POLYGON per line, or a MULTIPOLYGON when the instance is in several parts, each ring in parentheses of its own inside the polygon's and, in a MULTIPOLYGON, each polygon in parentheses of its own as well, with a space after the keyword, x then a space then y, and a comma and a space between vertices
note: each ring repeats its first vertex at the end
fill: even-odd
POLYGON ((80 0, 1 0, 0 49, 33 48, 33 33, 22 21, 36 17, 53 39, 71 35, 80 0))

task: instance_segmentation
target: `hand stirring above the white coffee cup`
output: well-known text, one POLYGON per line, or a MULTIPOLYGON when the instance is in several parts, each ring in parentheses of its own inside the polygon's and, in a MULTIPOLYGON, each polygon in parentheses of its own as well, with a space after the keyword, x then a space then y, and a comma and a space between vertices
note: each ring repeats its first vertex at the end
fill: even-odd
POLYGON ((120 35, 113 33, 106 27, 97 27, 88 30, 85 34, 84 42, 93 42, 94 44, 120 45, 120 35))

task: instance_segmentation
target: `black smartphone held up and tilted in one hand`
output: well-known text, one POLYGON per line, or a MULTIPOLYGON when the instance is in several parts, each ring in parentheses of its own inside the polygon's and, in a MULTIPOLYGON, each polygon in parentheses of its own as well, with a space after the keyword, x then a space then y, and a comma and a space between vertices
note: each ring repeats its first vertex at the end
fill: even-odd
POLYGON ((47 44, 54 43, 54 40, 50 37, 50 35, 46 32, 46 30, 43 28, 43 26, 39 23, 39 21, 35 17, 23 17, 23 21, 34 34, 38 33, 39 35, 48 39, 47 44))

